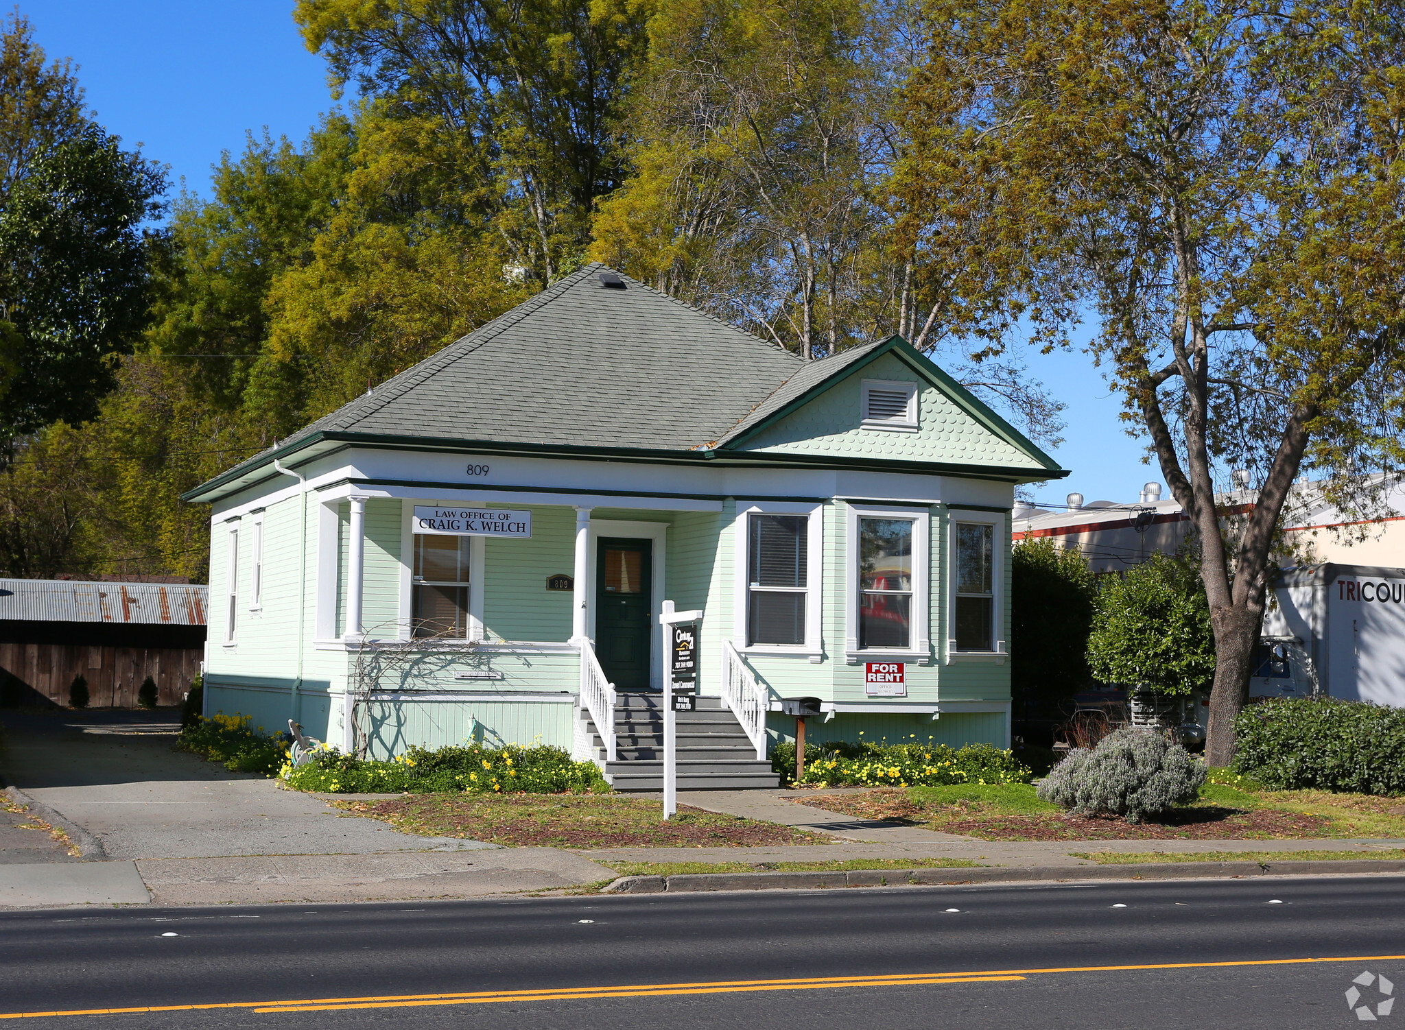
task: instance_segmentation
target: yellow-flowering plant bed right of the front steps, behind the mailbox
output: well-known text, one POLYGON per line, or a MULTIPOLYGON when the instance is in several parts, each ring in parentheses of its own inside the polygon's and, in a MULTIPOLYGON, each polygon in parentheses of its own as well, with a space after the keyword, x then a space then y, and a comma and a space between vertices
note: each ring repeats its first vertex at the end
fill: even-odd
MULTIPOLYGON (((781 783, 795 780, 795 742, 771 750, 771 769, 781 783)), ((821 787, 940 787, 954 783, 1027 783, 1030 770, 1009 750, 989 743, 948 748, 944 743, 880 743, 832 741, 805 745, 805 778, 821 787)))

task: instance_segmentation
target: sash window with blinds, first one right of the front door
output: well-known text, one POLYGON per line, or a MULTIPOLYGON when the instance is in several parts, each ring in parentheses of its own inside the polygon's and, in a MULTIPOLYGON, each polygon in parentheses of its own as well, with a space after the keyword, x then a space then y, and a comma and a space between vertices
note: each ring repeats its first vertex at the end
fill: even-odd
POLYGON ((804 644, 809 519, 750 514, 746 527, 746 642, 804 644))

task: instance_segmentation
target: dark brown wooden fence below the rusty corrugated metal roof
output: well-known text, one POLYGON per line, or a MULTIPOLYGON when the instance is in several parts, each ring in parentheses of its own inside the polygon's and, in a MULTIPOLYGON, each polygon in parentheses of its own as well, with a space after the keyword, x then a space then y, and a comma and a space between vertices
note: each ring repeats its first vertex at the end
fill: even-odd
POLYGON ((69 684, 81 673, 90 707, 135 708, 136 691, 150 676, 157 704, 180 704, 200 673, 201 658, 204 648, 0 642, 0 694, 13 705, 66 705, 69 684))

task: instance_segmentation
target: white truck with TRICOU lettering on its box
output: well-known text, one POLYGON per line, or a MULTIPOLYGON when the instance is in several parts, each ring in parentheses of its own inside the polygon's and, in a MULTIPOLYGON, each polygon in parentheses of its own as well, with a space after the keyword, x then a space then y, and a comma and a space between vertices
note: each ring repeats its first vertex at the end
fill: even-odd
POLYGON ((1405 707, 1405 569, 1305 565, 1284 569, 1263 618, 1253 697, 1305 697, 1405 707))

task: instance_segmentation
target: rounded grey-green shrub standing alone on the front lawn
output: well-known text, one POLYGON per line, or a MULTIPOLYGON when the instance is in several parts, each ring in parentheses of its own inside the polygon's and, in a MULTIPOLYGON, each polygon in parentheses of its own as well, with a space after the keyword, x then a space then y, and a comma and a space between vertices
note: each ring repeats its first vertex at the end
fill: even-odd
POLYGON ((1186 805, 1205 783, 1205 763, 1145 729, 1117 729, 1092 750, 1075 748, 1040 781, 1038 795, 1079 815, 1148 815, 1186 805))

